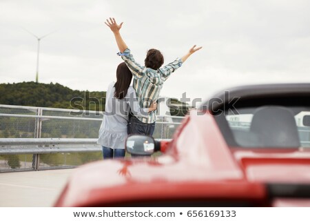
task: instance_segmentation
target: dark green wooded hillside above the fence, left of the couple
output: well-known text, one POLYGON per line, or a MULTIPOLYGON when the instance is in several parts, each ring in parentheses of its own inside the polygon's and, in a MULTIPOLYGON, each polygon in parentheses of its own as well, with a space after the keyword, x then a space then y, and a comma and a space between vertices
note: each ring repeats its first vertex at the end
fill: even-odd
POLYGON ((72 90, 57 83, 34 81, 0 84, 0 104, 104 111, 105 91, 72 90))

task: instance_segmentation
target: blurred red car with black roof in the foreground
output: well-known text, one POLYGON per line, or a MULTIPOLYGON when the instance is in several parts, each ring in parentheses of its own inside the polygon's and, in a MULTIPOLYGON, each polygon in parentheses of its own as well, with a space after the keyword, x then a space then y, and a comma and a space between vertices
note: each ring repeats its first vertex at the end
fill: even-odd
POLYGON ((241 86, 192 109, 171 141, 85 164, 54 206, 310 206, 310 84, 241 86))

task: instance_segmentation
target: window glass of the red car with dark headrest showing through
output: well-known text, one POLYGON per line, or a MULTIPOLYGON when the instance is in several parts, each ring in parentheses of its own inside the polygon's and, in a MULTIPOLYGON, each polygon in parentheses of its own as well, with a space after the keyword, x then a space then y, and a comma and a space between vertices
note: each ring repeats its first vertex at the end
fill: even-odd
POLYGON ((239 108, 234 113, 225 114, 225 120, 223 116, 221 118, 219 126, 229 146, 310 147, 309 107, 239 108))

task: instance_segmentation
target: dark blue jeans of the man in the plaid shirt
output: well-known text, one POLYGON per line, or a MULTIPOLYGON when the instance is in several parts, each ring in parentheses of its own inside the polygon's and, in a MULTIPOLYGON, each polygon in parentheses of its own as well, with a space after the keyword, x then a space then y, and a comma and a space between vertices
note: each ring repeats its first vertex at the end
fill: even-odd
POLYGON ((130 134, 141 134, 152 136, 155 129, 155 122, 152 124, 145 124, 138 118, 130 115, 129 122, 127 124, 127 133, 130 134))

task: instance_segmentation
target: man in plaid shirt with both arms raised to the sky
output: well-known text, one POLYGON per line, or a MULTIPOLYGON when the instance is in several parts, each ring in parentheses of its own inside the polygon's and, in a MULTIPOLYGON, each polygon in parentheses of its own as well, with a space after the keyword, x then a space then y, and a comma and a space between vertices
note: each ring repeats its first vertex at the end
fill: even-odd
MULTIPOLYGON (((150 49, 147 51, 145 66, 141 66, 134 60, 130 49, 121 37, 119 31, 121 30, 123 22, 118 25, 114 18, 110 18, 107 19, 105 24, 110 27, 114 34, 116 44, 120 50, 118 55, 122 57, 134 76, 133 87, 134 90, 136 90, 136 97, 141 108, 148 108, 149 104, 157 101, 159 94, 161 93, 161 88, 163 88, 163 83, 170 76, 170 74, 177 68, 180 68, 180 66, 182 66, 190 55, 202 48, 196 48, 196 46, 192 47, 183 57, 174 60, 166 66, 163 66, 163 68, 161 68, 161 66, 163 65, 164 59, 161 52, 156 49, 150 49)), ((153 135, 155 121, 156 111, 150 112, 147 118, 132 115, 128 124, 128 134, 138 133, 153 135)))

